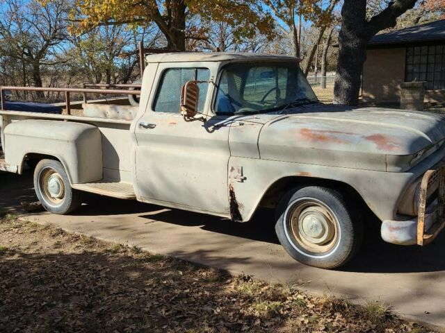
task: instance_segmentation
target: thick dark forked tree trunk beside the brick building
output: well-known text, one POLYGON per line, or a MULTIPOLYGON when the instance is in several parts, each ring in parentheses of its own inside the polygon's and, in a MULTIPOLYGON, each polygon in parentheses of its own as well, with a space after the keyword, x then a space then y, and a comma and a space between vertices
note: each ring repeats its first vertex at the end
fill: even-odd
POLYGON ((396 26, 397 19, 414 8, 417 0, 391 1, 366 19, 366 0, 344 0, 339 33, 339 60, 334 85, 334 103, 357 105, 361 74, 366 60, 366 46, 385 28, 396 26))

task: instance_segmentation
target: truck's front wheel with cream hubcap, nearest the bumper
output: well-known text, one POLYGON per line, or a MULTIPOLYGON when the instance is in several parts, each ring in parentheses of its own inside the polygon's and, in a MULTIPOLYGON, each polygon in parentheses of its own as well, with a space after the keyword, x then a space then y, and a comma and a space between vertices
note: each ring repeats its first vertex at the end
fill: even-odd
POLYGON ((282 198, 275 230, 293 259, 320 268, 346 264, 363 232, 337 191, 314 186, 292 189, 282 198))

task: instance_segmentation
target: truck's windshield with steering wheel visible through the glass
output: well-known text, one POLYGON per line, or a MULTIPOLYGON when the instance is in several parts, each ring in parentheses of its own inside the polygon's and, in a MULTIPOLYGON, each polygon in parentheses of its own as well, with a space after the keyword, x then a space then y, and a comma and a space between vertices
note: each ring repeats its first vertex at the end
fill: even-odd
POLYGON ((229 65, 223 69, 217 114, 273 112, 318 99, 297 64, 229 65))

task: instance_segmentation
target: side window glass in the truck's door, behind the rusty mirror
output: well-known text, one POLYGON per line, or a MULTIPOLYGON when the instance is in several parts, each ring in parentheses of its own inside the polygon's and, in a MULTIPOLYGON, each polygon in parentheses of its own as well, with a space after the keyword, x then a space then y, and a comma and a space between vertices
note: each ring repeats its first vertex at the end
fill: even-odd
MULTIPOLYGON (((163 72, 159 83, 153 110, 156 112, 179 112, 181 103, 181 88, 190 80, 208 81, 209 69, 203 68, 170 68, 163 72)), ((208 83, 200 83, 199 110, 204 110, 204 102, 207 98, 208 83)))

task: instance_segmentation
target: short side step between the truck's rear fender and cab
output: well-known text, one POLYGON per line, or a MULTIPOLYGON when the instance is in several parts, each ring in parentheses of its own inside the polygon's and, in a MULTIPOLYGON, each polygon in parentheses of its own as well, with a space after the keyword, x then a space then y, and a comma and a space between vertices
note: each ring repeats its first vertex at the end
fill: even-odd
POLYGON ((129 182, 107 182, 106 180, 99 180, 99 182, 88 182, 86 184, 72 184, 71 187, 73 189, 79 189, 79 191, 86 191, 101 196, 136 200, 133 184, 129 182))

